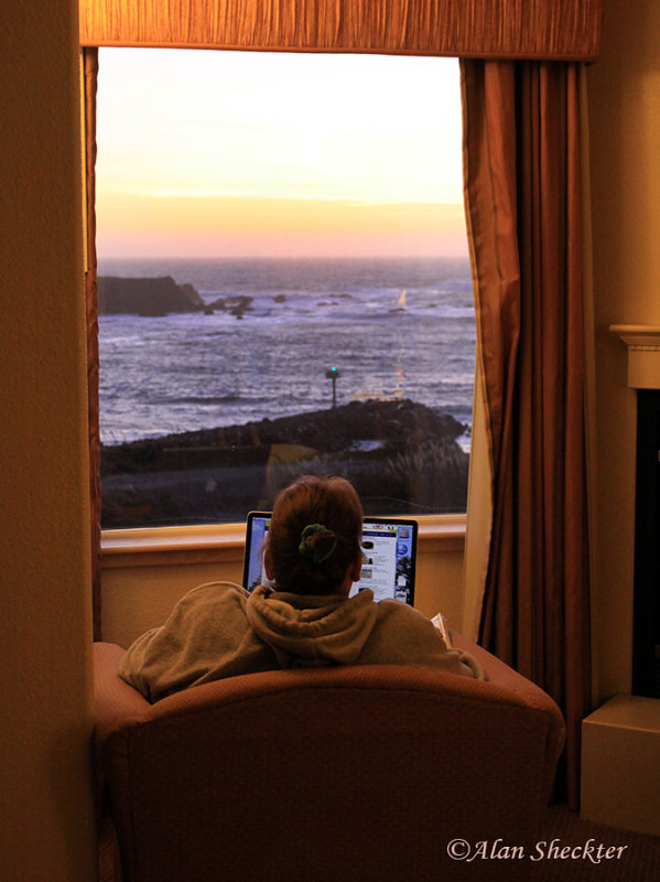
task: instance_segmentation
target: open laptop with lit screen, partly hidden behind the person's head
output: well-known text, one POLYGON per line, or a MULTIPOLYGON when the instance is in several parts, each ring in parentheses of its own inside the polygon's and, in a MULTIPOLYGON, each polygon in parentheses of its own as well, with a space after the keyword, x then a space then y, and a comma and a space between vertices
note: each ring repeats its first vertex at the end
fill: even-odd
MULTIPOLYGON (((263 540, 270 526, 270 512, 250 512, 247 518, 242 584, 248 591, 271 585, 263 570, 263 540)), ((374 600, 393 598, 414 605, 418 523, 393 517, 366 517, 361 547, 365 555, 360 581, 350 595, 366 588, 374 600)))

